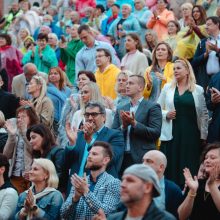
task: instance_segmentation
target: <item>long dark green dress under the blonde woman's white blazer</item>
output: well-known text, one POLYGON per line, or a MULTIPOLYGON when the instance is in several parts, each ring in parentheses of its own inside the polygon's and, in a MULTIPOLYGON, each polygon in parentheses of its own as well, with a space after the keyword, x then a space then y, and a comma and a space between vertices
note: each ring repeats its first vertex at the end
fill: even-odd
POLYGON ((192 175, 197 175, 201 154, 200 131, 193 95, 186 91, 179 95, 175 90, 174 106, 176 119, 173 120, 173 139, 162 142, 161 151, 167 156, 166 178, 180 186, 185 183, 183 169, 189 168, 192 175))

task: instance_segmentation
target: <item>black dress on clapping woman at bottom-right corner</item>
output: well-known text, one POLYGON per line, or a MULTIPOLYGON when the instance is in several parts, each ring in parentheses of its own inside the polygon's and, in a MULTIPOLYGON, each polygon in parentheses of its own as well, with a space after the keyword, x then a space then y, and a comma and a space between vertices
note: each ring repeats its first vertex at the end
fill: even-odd
POLYGON ((205 184, 206 180, 199 180, 190 220, 220 220, 220 212, 215 206, 211 194, 205 191, 205 184))

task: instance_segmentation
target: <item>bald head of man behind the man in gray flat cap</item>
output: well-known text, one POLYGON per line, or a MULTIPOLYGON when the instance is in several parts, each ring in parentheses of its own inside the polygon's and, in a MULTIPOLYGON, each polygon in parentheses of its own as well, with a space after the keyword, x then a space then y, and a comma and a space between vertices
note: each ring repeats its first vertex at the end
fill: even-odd
POLYGON ((167 158, 159 150, 150 150, 143 156, 143 164, 151 166, 159 178, 162 178, 167 166, 167 158))

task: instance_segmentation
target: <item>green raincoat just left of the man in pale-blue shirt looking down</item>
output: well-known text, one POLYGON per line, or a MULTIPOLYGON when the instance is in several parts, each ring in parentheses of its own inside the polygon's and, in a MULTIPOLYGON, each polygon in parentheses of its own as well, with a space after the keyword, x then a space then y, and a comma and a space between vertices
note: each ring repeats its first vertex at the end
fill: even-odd
POLYGON ((75 80, 75 58, 76 54, 84 46, 79 39, 71 40, 66 48, 60 48, 60 58, 66 64, 66 75, 73 84, 75 80))

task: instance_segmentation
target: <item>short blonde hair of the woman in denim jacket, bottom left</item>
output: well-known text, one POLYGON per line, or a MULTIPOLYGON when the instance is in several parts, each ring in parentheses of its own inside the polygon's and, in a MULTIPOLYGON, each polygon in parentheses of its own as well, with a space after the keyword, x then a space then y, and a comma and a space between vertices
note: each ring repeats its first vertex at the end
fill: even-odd
POLYGON ((37 165, 41 166, 45 172, 48 174, 47 187, 52 187, 57 189, 59 178, 57 176, 56 168, 53 164, 53 162, 49 159, 39 158, 34 159, 33 163, 36 163, 37 165))

